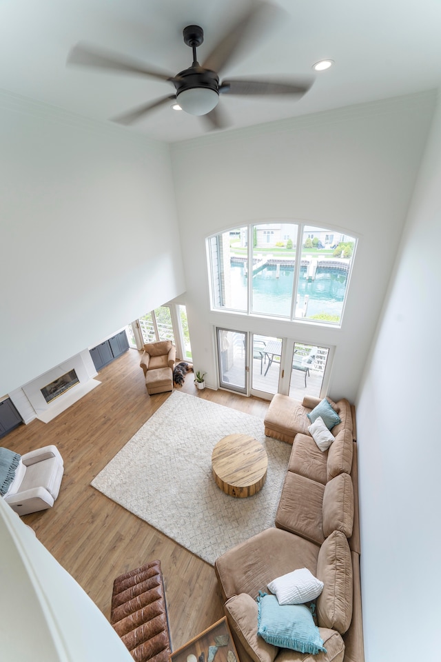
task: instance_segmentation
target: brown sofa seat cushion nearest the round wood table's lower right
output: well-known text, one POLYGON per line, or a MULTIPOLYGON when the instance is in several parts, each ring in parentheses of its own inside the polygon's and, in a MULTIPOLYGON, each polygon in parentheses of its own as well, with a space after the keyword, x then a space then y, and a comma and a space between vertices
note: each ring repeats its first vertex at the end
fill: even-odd
POLYGON ((324 493, 325 486, 321 483, 288 471, 276 512, 276 526, 321 545, 325 540, 322 523, 324 493))

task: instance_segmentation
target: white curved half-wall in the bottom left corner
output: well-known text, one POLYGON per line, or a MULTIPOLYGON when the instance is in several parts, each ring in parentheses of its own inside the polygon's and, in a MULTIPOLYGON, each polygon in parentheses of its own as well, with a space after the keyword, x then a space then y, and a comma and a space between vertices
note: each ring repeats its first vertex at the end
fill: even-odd
POLYGON ((130 662, 88 594, 0 499, 1 659, 130 662))

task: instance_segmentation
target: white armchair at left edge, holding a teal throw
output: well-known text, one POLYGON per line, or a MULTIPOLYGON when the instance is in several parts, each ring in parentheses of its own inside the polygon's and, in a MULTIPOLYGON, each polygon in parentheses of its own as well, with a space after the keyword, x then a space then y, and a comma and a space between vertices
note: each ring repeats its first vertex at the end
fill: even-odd
POLYGON ((21 456, 14 480, 3 498, 19 515, 52 508, 63 472, 63 458, 57 446, 31 450, 21 456))

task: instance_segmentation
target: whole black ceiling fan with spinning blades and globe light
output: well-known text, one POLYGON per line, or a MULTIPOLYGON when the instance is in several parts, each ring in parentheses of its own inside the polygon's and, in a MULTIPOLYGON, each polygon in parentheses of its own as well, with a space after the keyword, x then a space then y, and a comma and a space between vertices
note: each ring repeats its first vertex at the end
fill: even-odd
MULTIPOLYGON (((220 82, 219 72, 237 54, 249 28, 256 30, 257 19, 265 17, 268 12, 275 10, 274 6, 263 1, 257 1, 240 17, 226 34, 218 41, 204 63, 200 65, 196 57, 196 48, 203 43, 203 29, 200 26, 187 26, 183 30, 184 42, 192 48, 192 66, 178 74, 170 74, 158 70, 150 65, 126 57, 79 43, 68 55, 68 64, 98 67, 130 74, 141 74, 147 77, 161 79, 172 83, 175 88, 173 94, 148 101, 138 108, 125 112, 113 121, 121 124, 130 124, 141 119, 145 114, 165 106, 174 101, 185 112, 201 116, 207 121, 210 129, 220 129, 227 126, 225 114, 218 107, 220 94, 238 95, 291 95, 300 98, 311 87, 311 79, 297 81, 271 81, 255 79, 225 79, 220 82), (266 15, 265 15, 266 14, 266 15)), ((260 20, 260 26, 263 22, 260 20)))

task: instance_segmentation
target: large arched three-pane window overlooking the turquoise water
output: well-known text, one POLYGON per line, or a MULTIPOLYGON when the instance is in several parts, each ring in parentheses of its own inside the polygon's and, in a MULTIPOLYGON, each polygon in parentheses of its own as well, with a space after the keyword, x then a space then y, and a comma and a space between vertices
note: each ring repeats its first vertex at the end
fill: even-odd
POLYGON ((260 223, 207 240, 213 308, 340 324, 356 239, 260 223))

